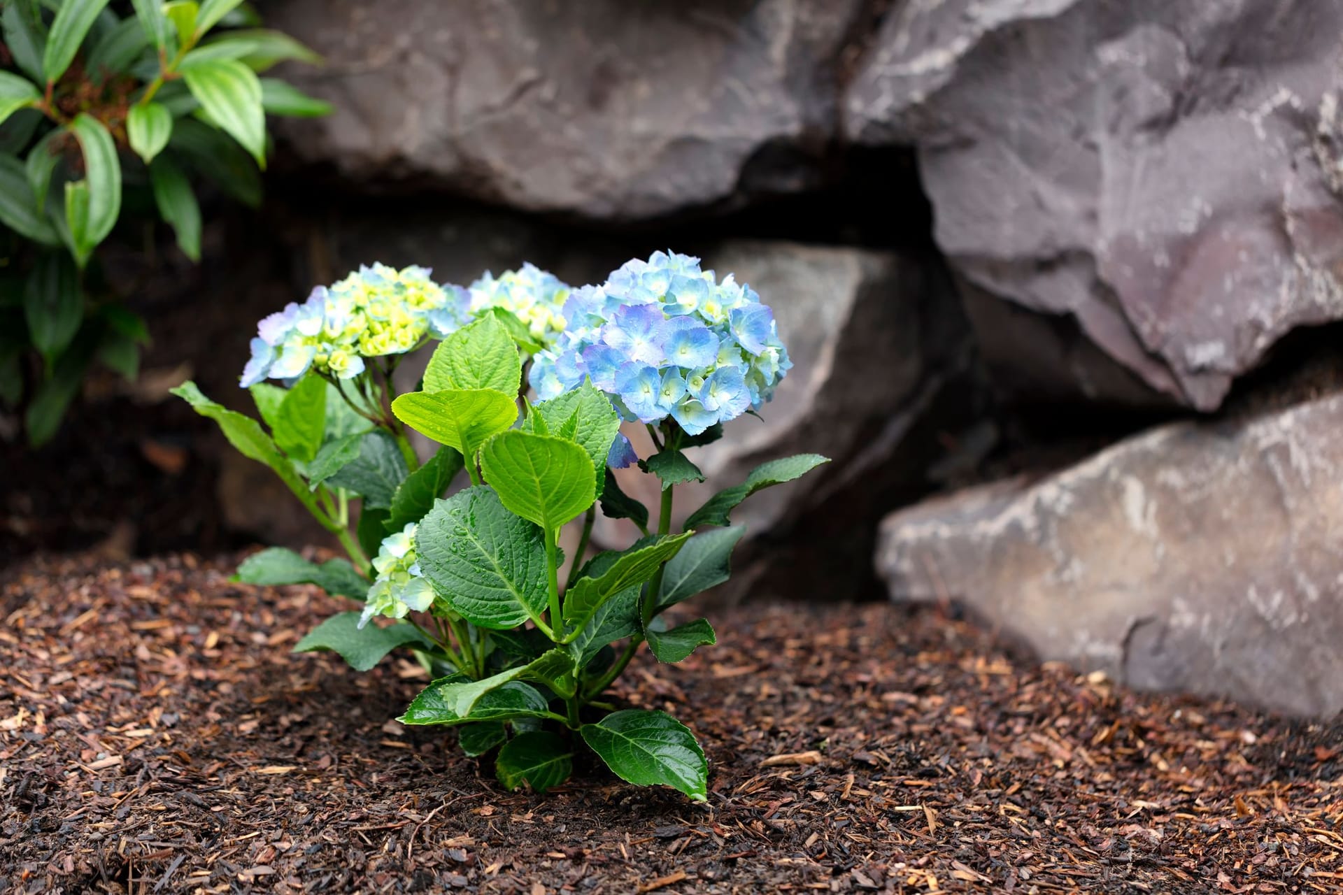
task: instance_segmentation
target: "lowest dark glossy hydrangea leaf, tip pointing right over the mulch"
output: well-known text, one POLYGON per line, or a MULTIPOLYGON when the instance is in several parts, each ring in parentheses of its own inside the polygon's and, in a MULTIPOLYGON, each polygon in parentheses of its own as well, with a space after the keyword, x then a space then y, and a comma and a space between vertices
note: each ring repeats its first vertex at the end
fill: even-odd
POLYGON ((635 786, 665 784, 706 800, 709 766, 694 734, 665 711, 616 711, 583 725, 583 739, 616 777, 635 786))

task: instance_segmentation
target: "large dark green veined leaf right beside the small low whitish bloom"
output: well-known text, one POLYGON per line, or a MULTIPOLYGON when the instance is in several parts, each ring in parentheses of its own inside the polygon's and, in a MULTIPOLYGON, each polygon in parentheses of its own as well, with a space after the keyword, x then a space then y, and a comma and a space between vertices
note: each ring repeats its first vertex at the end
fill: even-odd
POLYGON ((434 592, 481 628, 539 621, 547 607, 541 530, 477 486, 436 501, 415 534, 415 556, 434 592))

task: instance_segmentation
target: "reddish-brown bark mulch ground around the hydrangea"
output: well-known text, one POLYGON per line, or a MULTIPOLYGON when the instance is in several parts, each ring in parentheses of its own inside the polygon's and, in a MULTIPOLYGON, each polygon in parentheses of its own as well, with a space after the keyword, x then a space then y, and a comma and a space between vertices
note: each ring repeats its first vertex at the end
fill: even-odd
POLYGON ((337 604, 172 557, 0 601, 0 891, 1338 892, 1339 725, 1135 695, 886 605, 743 607, 633 666, 708 805, 506 793, 407 730, 410 663, 290 655, 337 604))

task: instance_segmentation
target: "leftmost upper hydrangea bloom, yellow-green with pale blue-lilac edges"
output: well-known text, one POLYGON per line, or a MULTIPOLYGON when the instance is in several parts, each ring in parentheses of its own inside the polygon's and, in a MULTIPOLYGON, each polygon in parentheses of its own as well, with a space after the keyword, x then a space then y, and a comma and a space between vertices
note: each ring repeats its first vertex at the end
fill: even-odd
POLYGON ((360 267, 329 288, 318 286, 302 305, 290 302, 262 319, 240 385, 294 380, 309 369, 353 378, 364 372, 364 358, 403 354, 467 318, 466 291, 439 286, 424 267, 360 267))

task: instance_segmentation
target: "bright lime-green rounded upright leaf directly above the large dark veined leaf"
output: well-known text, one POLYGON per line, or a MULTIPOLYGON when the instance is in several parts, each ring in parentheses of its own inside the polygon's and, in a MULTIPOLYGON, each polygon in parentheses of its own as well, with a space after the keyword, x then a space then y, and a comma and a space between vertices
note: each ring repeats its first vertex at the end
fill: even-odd
POLYGON ((587 452, 549 435, 496 435, 481 448, 481 470, 505 507, 536 522, 552 539, 592 506, 596 494, 587 452))

